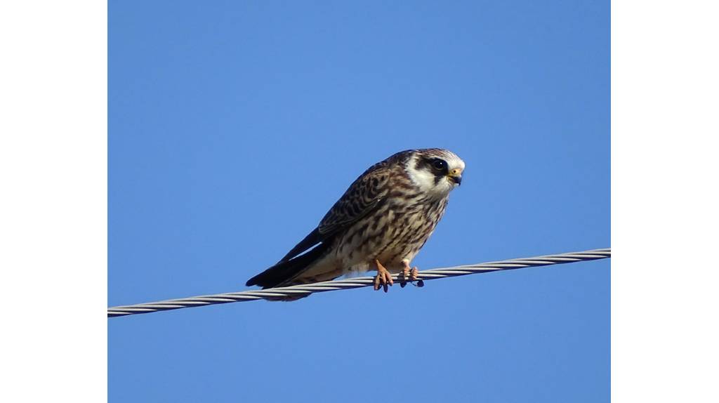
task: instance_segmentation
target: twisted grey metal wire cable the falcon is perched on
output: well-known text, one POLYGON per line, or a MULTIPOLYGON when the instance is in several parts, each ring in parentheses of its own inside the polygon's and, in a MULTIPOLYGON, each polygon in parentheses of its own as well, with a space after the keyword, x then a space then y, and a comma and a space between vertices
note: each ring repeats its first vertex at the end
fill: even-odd
MULTIPOLYGON (((467 274, 480 274, 498 272, 501 270, 523 269, 525 267, 549 266, 551 264, 573 263, 575 261, 587 261, 606 259, 611 257, 611 249, 592 249, 590 251, 570 252, 566 254, 554 254, 546 256, 535 256, 521 259, 509 259, 501 261, 490 261, 487 263, 467 264, 464 266, 441 267, 419 272, 419 280, 443 279, 445 277, 458 277, 467 274)), ((398 281, 398 274, 393 274, 392 279, 398 281)), ((306 296, 315 292, 336 291, 338 289, 353 289, 370 287, 374 283, 374 277, 354 277, 347 279, 333 280, 329 282, 316 282, 311 284, 293 285, 290 287, 276 287, 268 289, 257 289, 252 291, 226 292, 224 294, 200 295, 198 297, 180 298, 177 300, 165 300, 158 302, 145 302, 136 305, 122 305, 109 307, 108 318, 118 316, 137 315, 140 313, 157 312, 161 310, 175 310, 180 308, 199 307, 205 305, 226 304, 229 302, 242 302, 254 300, 272 300, 278 297, 306 296)))

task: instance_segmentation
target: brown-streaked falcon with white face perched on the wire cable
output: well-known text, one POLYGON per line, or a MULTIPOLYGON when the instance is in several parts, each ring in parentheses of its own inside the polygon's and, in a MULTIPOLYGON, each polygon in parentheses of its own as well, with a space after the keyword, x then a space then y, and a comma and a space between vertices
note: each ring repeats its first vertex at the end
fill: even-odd
MULTIPOLYGON (((464 161, 446 149, 411 149, 372 165, 299 244, 247 285, 284 287, 377 270, 375 290, 417 279, 410 263, 462 183, 464 161)), ((297 299, 288 298, 289 299, 297 299)))

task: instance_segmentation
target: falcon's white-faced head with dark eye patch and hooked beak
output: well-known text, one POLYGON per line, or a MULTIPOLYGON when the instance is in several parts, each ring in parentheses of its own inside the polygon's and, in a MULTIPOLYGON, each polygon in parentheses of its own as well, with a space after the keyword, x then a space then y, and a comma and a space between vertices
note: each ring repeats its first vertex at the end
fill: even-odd
POLYGON ((447 149, 416 149, 405 170, 423 192, 444 196, 462 183, 464 161, 447 149))

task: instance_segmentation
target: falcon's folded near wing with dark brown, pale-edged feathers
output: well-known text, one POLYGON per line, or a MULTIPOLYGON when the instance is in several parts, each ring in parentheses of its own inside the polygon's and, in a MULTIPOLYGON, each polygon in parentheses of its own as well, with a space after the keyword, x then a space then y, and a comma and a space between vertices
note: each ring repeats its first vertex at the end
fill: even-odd
POLYGON ((303 251, 347 228, 355 221, 366 216, 382 203, 388 193, 387 182, 390 179, 388 160, 372 165, 349 185, 344 195, 329 209, 319 226, 308 234, 288 254, 280 260, 288 261, 303 251))

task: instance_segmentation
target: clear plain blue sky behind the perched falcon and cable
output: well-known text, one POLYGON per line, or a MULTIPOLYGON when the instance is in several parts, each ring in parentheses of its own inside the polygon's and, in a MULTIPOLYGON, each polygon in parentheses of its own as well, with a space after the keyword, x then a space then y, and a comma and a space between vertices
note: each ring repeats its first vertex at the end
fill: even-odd
MULTIPOLYGON (((109 305, 245 289, 452 149, 420 269, 610 246, 609 1, 109 2, 109 305)), ((114 318, 111 402, 607 402, 610 261, 114 318)))

